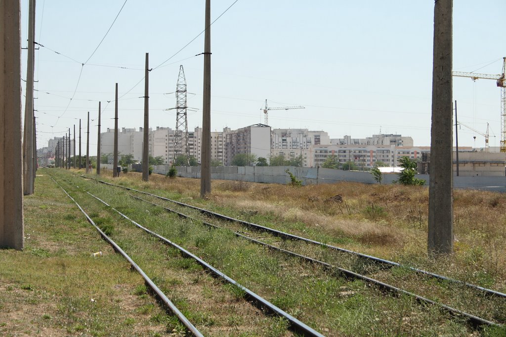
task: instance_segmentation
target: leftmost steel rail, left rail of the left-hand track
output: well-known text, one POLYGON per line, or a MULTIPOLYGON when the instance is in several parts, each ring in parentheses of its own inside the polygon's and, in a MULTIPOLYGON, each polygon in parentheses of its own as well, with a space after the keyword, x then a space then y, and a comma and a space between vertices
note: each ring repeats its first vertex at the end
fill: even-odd
POLYGON ((62 190, 63 192, 65 192, 65 194, 77 205, 77 207, 80 209, 80 211, 82 212, 82 214, 85 215, 86 219, 88 220, 88 222, 90 224, 92 224, 95 229, 97 229, 97 231, 100 233, 100 235, 104 238, 104 240, 106 240, 107 242, 109 242, 109 244, 114 248, 114 250, 116 250, 117 252, 119 252, 119 254, 121 254, 131 265, 132 267, 135 268, 135 270, 137 270, 137 272, 139 274, 141 274, 142 278, 144 278, 144 281, 149 285, 149 287, 157 294, 157 296, 159 297, 159 299, 172 311, 172 313, 174 315, 176 315, 178 317, 178 319, 181 321, 181 323, 183 323, 187 329, 195 336, 195 337, 203 337, 203 334, 200 333, 200 331, 188 320, 188 318, 185 317, 185 315, 183 315, 183 313, 181 313, 181 311, 174 305, 174 303, 171 302, 171 300, 169 300, 165 294, 163 293, 163 291, 160 290, 160 288, 158 288, 158 286, 156 286, 156 284, 149 278, 148 275, 146 275, 146 273, 134 262, 134 260, 124 252, 123 249, 121 249, 117 244, 116 242, 114 242, 110 237, 108 237, 96 224, 95 222, 93 221, 92 218, 90 218, 90 216, 88 216, 88 214, 85 212, 84 209, 82 209, 82 207, 77 203, 77 201, 75 201, 74 198, 72 198, 70 196, 69 193, 67 193, 67 191, 65 191, 65 189, 56 182, 56 180, 53 179, 53 177, 49 176, 54 182, 56 185, 58 185, 62 190))

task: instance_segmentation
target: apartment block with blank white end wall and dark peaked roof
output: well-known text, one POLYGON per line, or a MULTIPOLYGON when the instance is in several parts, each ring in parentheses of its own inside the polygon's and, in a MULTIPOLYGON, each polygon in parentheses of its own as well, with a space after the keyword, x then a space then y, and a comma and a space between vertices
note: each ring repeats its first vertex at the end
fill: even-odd
POLYGON ((265 124, 249 125, 227 131, 225 136, 225 165, 231 165, 236 154, 255 154, 269 158, 271 154, 271 127, 265 124))

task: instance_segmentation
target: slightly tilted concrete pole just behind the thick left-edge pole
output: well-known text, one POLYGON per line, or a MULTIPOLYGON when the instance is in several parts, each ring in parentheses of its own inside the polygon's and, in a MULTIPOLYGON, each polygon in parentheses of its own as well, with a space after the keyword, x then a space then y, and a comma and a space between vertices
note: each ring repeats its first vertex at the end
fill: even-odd
POLYGON ((28 2, 28 59, 26 65, 25 124, 23 129, 23 194, 33 193, 33 68, 35 0, 28 2))

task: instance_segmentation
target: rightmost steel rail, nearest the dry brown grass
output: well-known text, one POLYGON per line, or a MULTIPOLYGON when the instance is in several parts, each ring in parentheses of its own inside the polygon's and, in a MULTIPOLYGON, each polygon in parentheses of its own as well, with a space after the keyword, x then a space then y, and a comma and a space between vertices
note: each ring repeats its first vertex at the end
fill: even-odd
POLYGON ((476 285, 476 284, 460 281, 460 280, 457 280, 457 279, 454 279, 454 278, 450 278, 450 277, 446 277, 446 276, 439 275, 439 274, 436 274, 436 273, 432 273, 432 272, 429 272, 429 271, 426 271, 426 270, 423 270, 423 269, 409 267, 409 266, 402 265, 402 264, 394 262, 394 261, 385 260, 385 259, 377 258, 377 257, 374 257, 374 256, 362 254, 362 253, 357 252, 357 251, 353 251, 353 250, 349 250, 349 249, 346 249, 346 248, 330 245, 330 244, 327 244, 327 243, 323 243, 323 242, 319 242, 319 241, 316 241, 316 240, 308 239, 308 238, 305 238, 305 237, 302 237, 302 236, 289 234, 289 233, 282 232, 282 231, 279 231, 279 230, 276 230, 276 229, 273 229, 273 228, 265 227, 265 226, 262 226, 262 225, 257 225, 257 224, 253 224, 253 223, 250 223, 250 222, 247 222, 247 221, 243 221, 243 220, 239 220, 239 219, 234 219, 234 218, 231 218, 231 217, 219 214, 219 213, 212 212, 212 211, 207 210, 207 209, 203 209, 203 208, 200 208, 200 207, 189 205, 189 204, 186 204, 186 203, 183 203, 183 202, 180 202, 180 201, 168 199, 168 198, 165 198, 165 197, 162 197, 162 196, 159 196, 159 195, 156 195, 156 194, 152 194, 152 193, 149 193, 149 192, 140 191, 140 190, 137 190, 137 189, 134 189, 134 188, 131 188, 131 187, 125 187, 125 186, 115 185, 115 184, 111 184, 111 183, 108 183, 108 182, 105 182, 105 181, 102 181, 102 180, 99 180, 99 179, 95 179, 95 178, 91 178, 91 177, 87 177, 87 176, 83 176, 83 175, 81 175, 81 177, 87 178, 87 179, 93 179, 93 180, 98 181, 98 182, 100 182, 102 184, 106 184, 106 185, 110 185, 110 186, 114 186, 114 187, 119 187, 119 188, 123 188, 123 189, 130 190, 130 191, 134 191, 134 192, 150 195, 150 196, 153 196, 153 197, 161 199, 161 200, 170 201, 170 202, 176 203, 176 204, 184 206, 184 207, 189 207, 189 208, 198 210, 202 214, 207 214, 209 216, 212 216, 212 217, 215 217, 215 218, 219 218, 219 219, 223 219, 223 220, 227 220, 227 221, 230 221, 230 222, 236 222, 236 223, 242 224, 243 226, 248 227, 248 228, 256 229, 256 230, 263 231, 263 232, 272 233, 273 235, 278 236, 278 237, 282 237, 282 238, 286 238, 286 239, 291 239, 291 240, 304 241, 304 242, 312 243, 312 244, 315 244, 315 245, 324 246, 324 247, 332 249, 332 250, 345 252, 345 253, 350 254, 350 255, 358 256, 360 258, 363 258, 363 259, 366 259, 366 260, 370 260, 370 261, 373 261, 373 262, 376 262, 376 263, 381 263, 381 264, 384 264, 384 265, 390 265, 392 267, 407 268, 407 269, 409 269, 409 270, 411 270, 413 272, 416 272, 416 273, 419 273, 419 274, 423 274, 423 275, 428 276, 428 277, 433 277, 433 278, 436 278, 436 279, 440 279, 440 280, 448 281, 448 282, 452 282, 452 283, 462 284, 462 285, 465 285, 467 287, 470 287, 470 288, 473 288, 473 289, 476 289, 476 290, 480 290, 480 291, 484 292, 487 295, 497 296, 497 297, 501 297, 501 298, 506 298, 506 293, 503 293, 503 292, 500 292, 500 291, 496 291, 496 290, 493 290, 493 289, 489 289, 489 288, 485 288, 485 287, 482 287, 482 286, 479 286, 479 285, 476 285))

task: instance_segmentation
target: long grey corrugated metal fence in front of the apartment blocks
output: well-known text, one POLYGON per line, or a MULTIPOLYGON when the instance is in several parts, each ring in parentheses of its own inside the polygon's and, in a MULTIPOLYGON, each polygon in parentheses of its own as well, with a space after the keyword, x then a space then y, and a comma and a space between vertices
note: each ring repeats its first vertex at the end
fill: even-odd
MULTIPOLYGON (((154 173, 165 175, 169 165, 154 166, 154 173)), ((177 166, 178 176, 200 178, 200 166, 177 166)), ((293 166, 216 166, 211 167, 211 179, 237 180, 255 183, 287 184, 288 169, 303 185, 332 184, 340 181, 351 181, 365 184, 377 184, 369 172, 333 170, 332 168, 312 168, 293 166)), ((416 175, 429 185, 429 175, 416 175)), ((383 184, 392 184, 396 174, 384 174, 383 184)), ((478 189, 495 192, 506 192, 506 177, 453 177, 453 187, 459 189, 478 189)))

